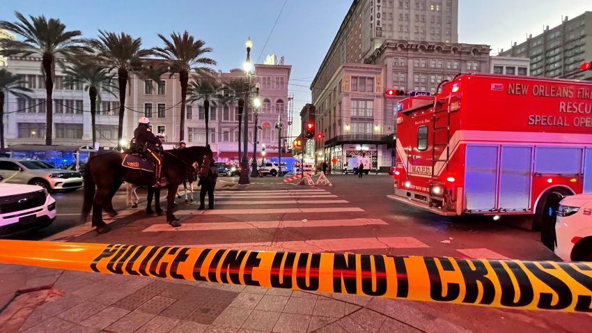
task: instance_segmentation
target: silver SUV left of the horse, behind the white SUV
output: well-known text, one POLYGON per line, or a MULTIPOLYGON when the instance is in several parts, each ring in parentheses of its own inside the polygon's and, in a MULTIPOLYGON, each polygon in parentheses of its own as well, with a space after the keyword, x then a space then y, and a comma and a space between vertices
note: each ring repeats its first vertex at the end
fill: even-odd
POLYGON ((0 176, 7 183, 38 185, 44 189, 63 189, 71 192, 82 187, 82 176, 77 171, 52 168, 38 160, 0 158, 0 176))

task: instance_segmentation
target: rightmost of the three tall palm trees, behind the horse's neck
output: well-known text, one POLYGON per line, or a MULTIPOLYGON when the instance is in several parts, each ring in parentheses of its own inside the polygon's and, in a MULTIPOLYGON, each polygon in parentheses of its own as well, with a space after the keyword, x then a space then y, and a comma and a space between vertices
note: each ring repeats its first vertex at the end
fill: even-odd
MULTIPOLYGON (((187 99, 189 72, 195 70, 198 75, 208 76, 212 72, 208 65, 216 65, 216 61, 204 56, 204 54, 212 52, 212 48, 205 47, 203 40, 195 40, 187 31, 182 36, 180 33, 171 33, 171 40, 166 39, 161 34, 158 34, 158 37, 164 42, 164 47, 155 47, 155 55, 165 59, 169 63, 171 76, 173 73, 179 73, 179 82, 181 84, 179 139, 183 140, 185 139, 185 102, 187 99)), ((208 129, 207 121, 205 128, 206 130, 208 129)))

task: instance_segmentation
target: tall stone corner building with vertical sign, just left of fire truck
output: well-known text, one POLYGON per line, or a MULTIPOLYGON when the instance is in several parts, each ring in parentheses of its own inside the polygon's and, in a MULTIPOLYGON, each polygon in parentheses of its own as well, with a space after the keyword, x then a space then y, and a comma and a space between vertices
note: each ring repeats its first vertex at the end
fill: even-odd
POLYGON ((353 1, 311 84, 325 136, 316 139, 317 164, 336 157, 341 169, 364 155, 387 169, 402 98, 385 98, 387 88, 435 93, 459 72, 489 72, 490 47, 460 44, 457 31, 458 1, 353 1))

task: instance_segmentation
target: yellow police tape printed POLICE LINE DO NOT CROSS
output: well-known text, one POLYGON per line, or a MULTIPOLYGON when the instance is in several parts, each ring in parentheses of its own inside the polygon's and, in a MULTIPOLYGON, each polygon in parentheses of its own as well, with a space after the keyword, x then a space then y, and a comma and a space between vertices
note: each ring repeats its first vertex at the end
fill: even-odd
POLYGON ((592 263, 0 240, 0 262, 513 309, 592 312, 592 263))

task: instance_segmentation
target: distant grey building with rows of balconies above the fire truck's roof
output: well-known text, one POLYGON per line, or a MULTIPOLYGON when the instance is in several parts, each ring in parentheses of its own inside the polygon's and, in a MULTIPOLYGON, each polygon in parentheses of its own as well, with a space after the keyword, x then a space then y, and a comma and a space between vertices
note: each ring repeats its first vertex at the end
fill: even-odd
POLYGON ((581 72, 579 65, 592 61, 592 12, 585 12, 559 26, 533 37, 525 42, 502 50, 500 56, 519 56, 530 59, 533 76, 563 77, 568 79, 592 79, 592 72, 581 72))

